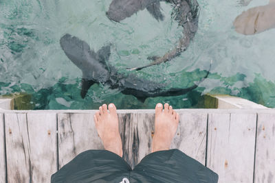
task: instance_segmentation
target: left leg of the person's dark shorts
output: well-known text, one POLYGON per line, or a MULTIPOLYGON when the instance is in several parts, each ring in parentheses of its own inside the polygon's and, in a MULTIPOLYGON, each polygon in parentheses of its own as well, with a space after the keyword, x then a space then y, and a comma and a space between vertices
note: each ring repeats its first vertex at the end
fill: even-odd
POLYGON ((131 167, 120 156, 106 150, 89 150, 65 164, 51 178, 52 183, 121 182, 129 179, 131 167))

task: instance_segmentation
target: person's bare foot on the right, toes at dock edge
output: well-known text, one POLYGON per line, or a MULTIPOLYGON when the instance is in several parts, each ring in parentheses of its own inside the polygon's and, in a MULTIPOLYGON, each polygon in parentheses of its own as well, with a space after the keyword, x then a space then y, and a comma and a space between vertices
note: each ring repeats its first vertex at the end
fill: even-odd
POLYGON ((153 136, 152 152, 170 149, 171 142, 177 132, 179 114, 168 103, 155 106, 155 134, 153 136))

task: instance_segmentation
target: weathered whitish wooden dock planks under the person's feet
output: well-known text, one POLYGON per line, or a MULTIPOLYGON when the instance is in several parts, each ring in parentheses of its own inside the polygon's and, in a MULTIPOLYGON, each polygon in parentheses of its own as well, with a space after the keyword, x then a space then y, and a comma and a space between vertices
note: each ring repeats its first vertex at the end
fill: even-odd
MULTIPOLYGON (((0 182, 50 182, 87 149, 103 149, 96 110, 0 110, 0 182)), ((154 110, 118 110, 123 158, 151 151, 154 110)), ((275 182, 275 110, 177 110, 177 148, 219 174, 219 182, 275 182)))

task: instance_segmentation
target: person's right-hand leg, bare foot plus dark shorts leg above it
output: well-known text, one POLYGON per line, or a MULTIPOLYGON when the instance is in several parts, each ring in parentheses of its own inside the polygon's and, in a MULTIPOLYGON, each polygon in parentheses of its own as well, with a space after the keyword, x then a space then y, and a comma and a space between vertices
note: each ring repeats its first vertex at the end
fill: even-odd
POLYGON ((178 149, 170 149, 177 131, 179 114, 172 106, 158 103, 155 108, 155 134, 152 153, 142 159, 131 171, 130 182, 184 182, 218 181, 218 175, 178 149), (169 150, 170 149, 170 150, 169 150))

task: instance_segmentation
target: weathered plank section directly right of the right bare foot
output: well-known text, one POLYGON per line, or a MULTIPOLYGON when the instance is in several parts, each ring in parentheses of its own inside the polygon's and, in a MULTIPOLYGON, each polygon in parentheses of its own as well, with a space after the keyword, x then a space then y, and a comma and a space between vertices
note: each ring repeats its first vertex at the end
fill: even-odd
POLYGON ((179 127, 171 144, 188 156, 205 164, 207 113, 179 112, 179 127))

